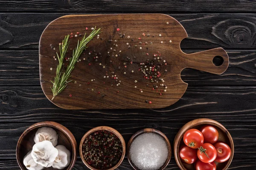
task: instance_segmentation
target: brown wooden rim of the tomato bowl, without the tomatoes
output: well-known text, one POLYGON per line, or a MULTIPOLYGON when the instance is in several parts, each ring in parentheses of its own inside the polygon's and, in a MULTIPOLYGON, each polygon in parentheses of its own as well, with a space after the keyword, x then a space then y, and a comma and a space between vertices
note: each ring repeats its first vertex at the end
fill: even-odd
POLYGON ((233 143, 233 139, 230 135, 230 133, 228 132, 228 130, 219 122, 212 120, 212 119, 206 119, 206 118, 201 118, 201 119, 194 119, 190 122, 187 122, 185 125, 183 125, 180 130, 178 131, 178 133, 175 136, 174 139, 174 157, 175 157, 175 161, 177 163, 177 165, 180 167, 181 170, 187 170, 184 166, 183 166, 183 162, 180 160, 180 156, 179 156, 179 147, 180 147, 180 142, 181 139, 183 138, 184 133, 189 130, 192 129, 195 126, 198 125, 214 125, 218 128, 220 128, 222 131, 224 131, 224 133, 227 135, 227 138, 230 141, 230 149, 231 149, 231 156, 230 159, 228 160, 226 166, 222 169, 222 170, 227 170, 227 168, 230 166, 232 160, 233 160, 233 156, 234 156, 234 143, 233 143))

